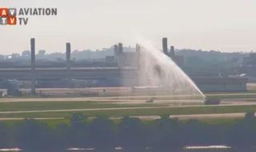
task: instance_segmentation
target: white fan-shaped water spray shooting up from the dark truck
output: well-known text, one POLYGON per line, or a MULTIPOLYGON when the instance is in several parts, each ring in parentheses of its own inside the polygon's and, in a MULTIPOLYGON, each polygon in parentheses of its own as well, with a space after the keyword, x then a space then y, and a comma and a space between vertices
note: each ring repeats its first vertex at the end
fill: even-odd
POLYGON ((170 94, 206 96, 193 80, 175 64, 174 60, 156 49, 148 41, 138 40, 140 45, 138 83, 140 86, 162 88, 170 94))

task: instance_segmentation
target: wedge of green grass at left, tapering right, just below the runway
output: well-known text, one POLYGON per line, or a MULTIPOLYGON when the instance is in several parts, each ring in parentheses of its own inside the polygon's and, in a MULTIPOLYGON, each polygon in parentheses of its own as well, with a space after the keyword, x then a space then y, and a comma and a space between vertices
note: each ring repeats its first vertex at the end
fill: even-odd
POLYGON ((85 102, 60 102, 60 101, 46 101, 46 102, 6 102, 0 103, 0 111, 42 111, 42 110, 65 110, 65 109, 91 109, 91 108, 112 108, 112 107, 159 107, 166 106, 165 103, 159 104, 114 104, 114 103, 100 103, 94 101, 85 102))

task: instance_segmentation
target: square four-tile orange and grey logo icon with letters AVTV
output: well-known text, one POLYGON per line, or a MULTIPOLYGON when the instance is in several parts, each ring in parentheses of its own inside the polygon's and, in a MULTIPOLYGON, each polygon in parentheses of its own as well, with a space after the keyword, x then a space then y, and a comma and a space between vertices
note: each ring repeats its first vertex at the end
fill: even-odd
POLYGON ((17 10, 14 8, 0 8, 0 25, 16 25, 17 10))

